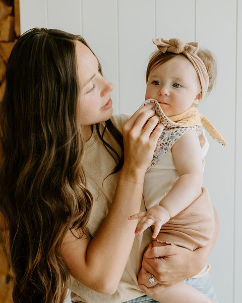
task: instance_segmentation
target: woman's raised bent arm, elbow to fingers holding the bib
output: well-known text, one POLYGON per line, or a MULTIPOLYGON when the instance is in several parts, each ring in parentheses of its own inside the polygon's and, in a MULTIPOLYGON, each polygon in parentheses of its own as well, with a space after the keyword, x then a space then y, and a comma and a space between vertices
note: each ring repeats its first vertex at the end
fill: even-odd
POLYGON ((139 109, 123 127, 124 166, 109 213, 95 237, 78 239, 70 231, 61 247, 70 274, 98 292, 115 292, 133 245, 136 222, 128 216, 140 209, 145 171, 163 131, 162 125, 156 126, 159 119, 153 106, 139 109))

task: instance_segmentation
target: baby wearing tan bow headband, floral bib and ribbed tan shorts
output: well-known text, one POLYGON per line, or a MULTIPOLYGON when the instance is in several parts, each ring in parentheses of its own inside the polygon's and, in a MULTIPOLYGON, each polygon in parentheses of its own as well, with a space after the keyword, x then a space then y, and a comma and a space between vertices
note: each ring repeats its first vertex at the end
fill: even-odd
MULTIPOLYGON (((148 63, 146 102, 142 106, 154 102, 154 111, 165 128, 145 176, 147 212, 129 219, 140 219, 137 234, 153 225, 153 246, 179 245, 195 250, 206 245, 214 232, 213 207, 207 190, 202 187, 204 157, 209 144, 201 126, 222 145, 227 145, 196 109, 213 87, 216 62, 197 42, 163 38, 153 42, 158 50, 148 63)), ((169 303, 215 302, 209 270, 206 265, 185 283, 151 297, 169 303)), ((150 286, 154 280, 152 275, 150 286)))

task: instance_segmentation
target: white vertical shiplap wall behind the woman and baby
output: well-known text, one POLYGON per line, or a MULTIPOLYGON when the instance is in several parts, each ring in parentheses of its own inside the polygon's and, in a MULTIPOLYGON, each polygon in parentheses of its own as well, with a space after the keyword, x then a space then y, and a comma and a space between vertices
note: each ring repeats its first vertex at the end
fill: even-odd
POLYGON ((21 32, 32 27, 81 34, 114 84, 116 113, 133 113, 144 100, 153 37, 198 40, 218 62, 214 91, 200 105, 229 142, 210 140, 204 185, 220 231, 210 256, 220 303, 241 303, 242 261, 242 0, 20 0, 21 32))

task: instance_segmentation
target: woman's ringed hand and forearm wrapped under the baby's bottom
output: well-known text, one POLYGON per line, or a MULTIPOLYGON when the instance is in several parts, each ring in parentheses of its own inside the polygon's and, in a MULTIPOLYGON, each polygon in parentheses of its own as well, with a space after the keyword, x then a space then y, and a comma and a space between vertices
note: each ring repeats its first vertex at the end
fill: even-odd
POLYGON ((142 266, 150 273, 150 276, 154 275, 160 284, 148 288, 145 286, 150 286, 147 275, 145 272, 142 276, 139 274, 140 287, 146 294, 158 293, 173 284, 195 276, 204 268, 218 236, 219 221, 215 209, 214 217, 213 238, 204 247, 191 251, 179 246, 152 247, 150 244, 144 254, 142 266))

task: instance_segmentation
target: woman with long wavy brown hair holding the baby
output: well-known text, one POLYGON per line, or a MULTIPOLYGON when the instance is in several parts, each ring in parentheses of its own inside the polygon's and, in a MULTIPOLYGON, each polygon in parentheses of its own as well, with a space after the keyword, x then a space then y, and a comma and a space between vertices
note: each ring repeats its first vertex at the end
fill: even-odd
MULTIPOLYGON (((113 86, 98 60, 83 38, 58 30, 22 35, 6 77, 0 206, 10 228, 14 301, 63 302, 68 282, 75 302, 143 296, 136 276, 150 231, 135 238, 128 216, 144 209, 144 175, 163 130, 153 105, 129 121, 110 119, 113 86)), ((161 251, 167 266, 150 249, 143 267, 171 285, 199 272, 212 246, 193 255, 161 251)))

